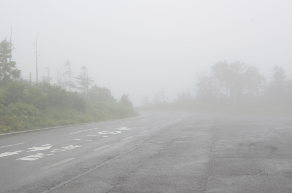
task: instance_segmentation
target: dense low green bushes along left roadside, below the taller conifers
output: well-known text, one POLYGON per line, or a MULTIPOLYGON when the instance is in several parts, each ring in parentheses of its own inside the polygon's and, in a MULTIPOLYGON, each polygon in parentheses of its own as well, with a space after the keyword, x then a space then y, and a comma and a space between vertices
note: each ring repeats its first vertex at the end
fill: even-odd
POLYGON ((117 102, 86 101, 46 82, 14 81, 0 89, 0 133, 136 116, 117 102))

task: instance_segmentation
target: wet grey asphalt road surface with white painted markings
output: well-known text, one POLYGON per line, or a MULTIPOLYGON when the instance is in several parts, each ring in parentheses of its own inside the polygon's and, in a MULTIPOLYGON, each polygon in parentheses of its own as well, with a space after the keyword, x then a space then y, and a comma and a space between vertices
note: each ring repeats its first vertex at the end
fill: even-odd
POLYGON ((292 118, 140 112, 0 135, 0 192, 292 192, 292 118))

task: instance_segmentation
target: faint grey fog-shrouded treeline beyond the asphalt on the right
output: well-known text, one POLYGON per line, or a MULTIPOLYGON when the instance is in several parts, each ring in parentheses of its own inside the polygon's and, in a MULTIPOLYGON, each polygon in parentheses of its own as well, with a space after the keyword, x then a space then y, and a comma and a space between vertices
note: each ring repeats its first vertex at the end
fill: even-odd
POLYGON ((270 81, 254 66, 243 62, 215 63, 209 73, 198 73, 194 83, 195 96, 189 90, 178 93, 171 103, 155 96, 152 103, 142 106, 162 109, 200 109, 212 111, 244 111, 292 114, 292 80, 285 70, 275 65, 270 81), (157 102, 158 101, 158 102, 157 102))

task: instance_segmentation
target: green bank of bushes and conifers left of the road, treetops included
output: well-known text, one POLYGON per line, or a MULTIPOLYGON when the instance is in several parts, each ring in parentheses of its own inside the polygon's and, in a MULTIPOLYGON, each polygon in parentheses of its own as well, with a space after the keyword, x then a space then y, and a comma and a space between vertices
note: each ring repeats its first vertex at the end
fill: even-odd
POLYGON ((76 77, 78 85, 70 79, 63 85, 52 85, 49 76, 42 82, 24 80, 12 61, 12 43, 1 41, 0 133, 137 115, 127 94, 117 102, 108 88, 91 86, 86 67, 76 77), (81 92, 67 91, 66 87, 81 92))

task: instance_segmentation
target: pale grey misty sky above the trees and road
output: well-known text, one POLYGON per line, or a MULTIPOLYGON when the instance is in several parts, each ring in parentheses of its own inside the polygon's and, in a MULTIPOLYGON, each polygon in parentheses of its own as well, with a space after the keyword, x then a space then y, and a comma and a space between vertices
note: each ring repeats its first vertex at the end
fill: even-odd
MULTIPOLYGON (((1 1, 0 39, 10 38, 22 76, 51 66, 75 76, 87 66, 95 84, 138 106, 161 88, 169 97, 193 90, 196 74, 218 61, 292 74, 292 1, 1 1)), ((193 92, 194 93, 194 92, 193 92)))

